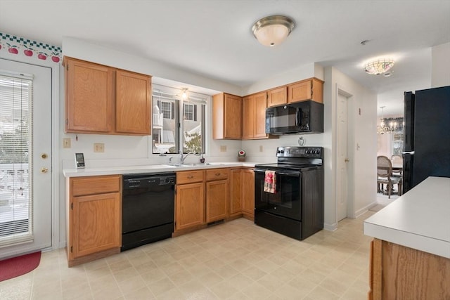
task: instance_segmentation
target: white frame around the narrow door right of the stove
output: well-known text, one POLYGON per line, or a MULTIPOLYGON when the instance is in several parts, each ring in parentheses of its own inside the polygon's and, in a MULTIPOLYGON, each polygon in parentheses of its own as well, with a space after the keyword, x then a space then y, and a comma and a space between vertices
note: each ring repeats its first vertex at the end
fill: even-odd
MULTIPOLYGON (((352 145, 354 145, 354 99, 353 94, 349 93, 348 89, 345 89, 344 87, 340 86, 339 84, 336 84, 335 89, 335 107, 334 110, 336 114, 338 113, 338 98, 339 96, 344 96, 347 98, 347 155, 349 158, 349 162, 347 164, 347 218, 354 218, 355 212, 354 212, 354 149, 352 145)), ((333 124, 334 128, 338 128, 338 117, 336 115, 335 122, 333 124)), ((334 186, 334 193, 335 193, 335 224, 336 228, 338 227, 338 188, 340 185, 342 185, 342 180, 338 174, 338 143, 339 143, 339 137, 338 132, 336 131, 336 138, 335 138, 335 145, 333 147, 336 149, 334 151, 333 155, 333 176, 335 177, 335 186, 334 186)))

